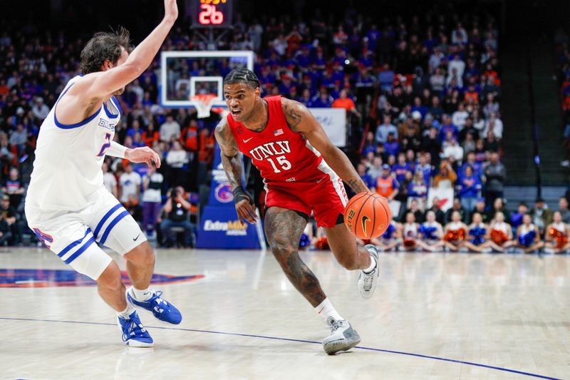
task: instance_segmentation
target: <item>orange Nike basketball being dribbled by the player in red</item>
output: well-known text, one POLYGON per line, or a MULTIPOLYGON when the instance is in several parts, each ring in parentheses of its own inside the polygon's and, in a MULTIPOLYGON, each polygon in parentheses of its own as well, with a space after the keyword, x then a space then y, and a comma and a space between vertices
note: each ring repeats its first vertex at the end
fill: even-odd
POLYGON ((361 192, 351 198, 344 210, 344 224, 363 240, 382 235, 390 225, 388 200, 375 192, 361 192))

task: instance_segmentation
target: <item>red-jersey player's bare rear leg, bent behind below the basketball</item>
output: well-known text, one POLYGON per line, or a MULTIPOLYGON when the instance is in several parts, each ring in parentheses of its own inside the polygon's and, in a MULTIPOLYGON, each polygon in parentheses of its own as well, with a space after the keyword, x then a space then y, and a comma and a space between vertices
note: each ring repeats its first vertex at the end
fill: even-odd
POLYGON ((365 269, 371 265, 371 256, 365 247, 356 244, 355 237, 340 223, 333 228, 326 228, 326 238, 338 264, 348 270, 365 269))

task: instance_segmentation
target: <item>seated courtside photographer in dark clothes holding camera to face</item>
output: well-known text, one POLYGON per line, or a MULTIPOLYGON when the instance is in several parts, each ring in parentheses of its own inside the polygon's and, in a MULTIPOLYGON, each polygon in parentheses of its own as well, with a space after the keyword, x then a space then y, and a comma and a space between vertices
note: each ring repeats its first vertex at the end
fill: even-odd
POLYGON ((184 228, 184 246, 192 246, 192 224, 188 220, 188 212, 190 211, 190 202, 185 199, 185 193, 182 186, 177 186, 168 191, 168 199, 164 207, 165 220, 160 222, 160 230, 165 236, 167 247, 172 247, 176 239, 176 232, 172 232, 173 227, 184 228))

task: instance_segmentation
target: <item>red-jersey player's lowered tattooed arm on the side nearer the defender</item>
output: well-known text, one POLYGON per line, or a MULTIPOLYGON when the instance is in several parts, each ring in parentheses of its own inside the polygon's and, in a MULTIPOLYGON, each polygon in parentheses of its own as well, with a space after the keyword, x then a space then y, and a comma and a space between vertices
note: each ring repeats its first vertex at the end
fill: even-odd
POLYGON ((214 135, 220 150, 222 150, 222 165, 224 166, 227 180, 232 190, 234 190, 234 188, 242 186, 242 160, 237 142, 226 118, 217 125, 214 135))

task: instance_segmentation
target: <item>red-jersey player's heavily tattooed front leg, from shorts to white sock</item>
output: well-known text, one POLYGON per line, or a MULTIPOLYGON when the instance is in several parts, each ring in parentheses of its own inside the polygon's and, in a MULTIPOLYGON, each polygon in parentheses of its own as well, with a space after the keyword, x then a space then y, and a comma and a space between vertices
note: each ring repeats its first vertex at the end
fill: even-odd
POLYGON ((294 211, 269 207, 265 212, 265 233, 271 252, 291 284, 313 307, 317 307, 326 295, 315 274, 299 257, 299 240, 305 226, 306 220, 294 211))

